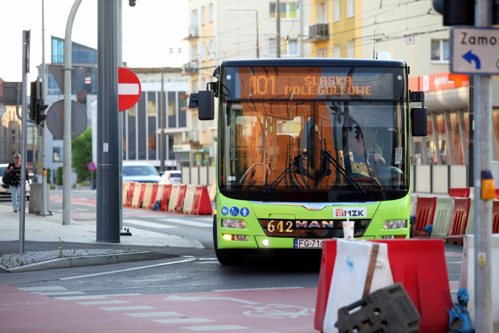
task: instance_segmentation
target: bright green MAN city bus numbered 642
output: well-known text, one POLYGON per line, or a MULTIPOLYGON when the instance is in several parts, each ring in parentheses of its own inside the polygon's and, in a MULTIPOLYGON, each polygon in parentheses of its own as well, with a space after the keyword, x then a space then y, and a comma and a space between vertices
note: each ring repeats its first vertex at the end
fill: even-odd
MULTIPOLYGON (((200 120, 218 114, 213 236, 220 263, 320 249, 324 239, 343 237, 347 218, 355 238, 409 238, 404 61, 226 60, 214 76, 209 89, 191 94, 190 107, 200 120)), ((426 108, 412 111, 413 135, 426 135, 426 108)))

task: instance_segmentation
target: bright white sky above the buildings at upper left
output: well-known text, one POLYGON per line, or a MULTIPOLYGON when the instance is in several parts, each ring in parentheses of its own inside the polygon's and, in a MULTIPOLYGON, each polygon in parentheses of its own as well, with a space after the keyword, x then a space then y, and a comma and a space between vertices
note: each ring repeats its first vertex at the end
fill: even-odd
MULTIPOLYGON (((50 36, 64 38, 72 0, 45 0, 45 62, 50 36)), ((123 0, 123 61, 130 67, 180 67, 188 61, 187 0, 123 0), (174 53, 169 53, 169 48, 174 53), (182 53, 178 49, 182 48, 182 53)), ((41 0, 0 0, 0 77, 21 81, 22 30, 31 29, 30 73, 37 76, 42 58, 41 0)), ((83 0, 72 30, 74 42, 97 48, 97 0, 83 0)))

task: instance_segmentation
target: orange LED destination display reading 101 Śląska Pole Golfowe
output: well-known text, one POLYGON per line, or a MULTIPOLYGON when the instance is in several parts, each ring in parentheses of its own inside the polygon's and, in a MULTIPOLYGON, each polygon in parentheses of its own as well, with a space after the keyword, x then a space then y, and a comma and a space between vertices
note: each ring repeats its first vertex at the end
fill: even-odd
MULTIPOLYGON (((225 86, 236 99, 394 99, 402 75, 343 67, 228 68, 225 86), (234 87, 233 89, 231 89, 234 87), (395 92, 395 93, 394 93, 395 92)), ((232 99, 232 98, 231 98, 232 99)), ((397 99, 397 97, 395 97, 397 99)))

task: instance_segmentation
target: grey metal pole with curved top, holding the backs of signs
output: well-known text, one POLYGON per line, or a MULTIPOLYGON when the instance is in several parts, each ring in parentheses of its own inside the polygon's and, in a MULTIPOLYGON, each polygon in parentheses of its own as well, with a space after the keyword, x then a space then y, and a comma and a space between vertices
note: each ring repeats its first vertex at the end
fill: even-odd
POLYGON ((71 32, 74 16, 81 0, 74 0, 66 23, 64 35, 64 125, 63 125, 63 161, 62 161, 62 224, 71 224, 71 32))

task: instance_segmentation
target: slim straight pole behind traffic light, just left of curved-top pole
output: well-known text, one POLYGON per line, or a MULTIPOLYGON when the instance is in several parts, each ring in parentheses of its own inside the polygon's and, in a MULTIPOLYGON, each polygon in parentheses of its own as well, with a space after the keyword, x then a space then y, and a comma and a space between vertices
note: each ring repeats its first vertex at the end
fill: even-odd
MULTIPOLYGON (((45 101, 47 95, 47 75, 45 68, 45 5, 41 0, 41 99, 45 101)), ((45 112, 45 111, 43 111, 45 112)), ((41 216, 47 215, 47 138, 45 125, 41 126, 41 216)))

